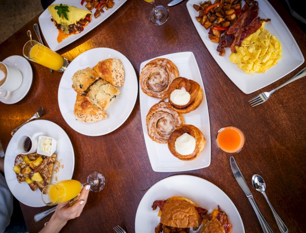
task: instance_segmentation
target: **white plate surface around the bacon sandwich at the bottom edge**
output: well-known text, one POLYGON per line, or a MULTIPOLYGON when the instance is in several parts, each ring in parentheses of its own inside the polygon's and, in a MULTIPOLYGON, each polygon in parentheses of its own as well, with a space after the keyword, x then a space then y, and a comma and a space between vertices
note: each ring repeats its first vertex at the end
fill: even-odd
POLYGON ((136 212, 135 232, 154 232, 160 222, 159 208, 152 210, 154 200, 165 200, 173 196, 185 197, 208 212, 220 206, 232 223, 231 233, 244 233, 241 217, 234 203, 215 184, 202 178, 189 175, 176 175, 155 183, 142 197, 136 212))

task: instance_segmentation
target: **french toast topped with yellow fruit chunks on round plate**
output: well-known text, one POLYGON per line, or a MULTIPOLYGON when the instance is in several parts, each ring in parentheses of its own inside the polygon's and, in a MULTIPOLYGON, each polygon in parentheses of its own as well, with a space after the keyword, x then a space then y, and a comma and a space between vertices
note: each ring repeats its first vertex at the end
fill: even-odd
POLYGON ((35 191, 40 191, 51 182, 52 170, 57 155, 18 154, 13 170, 19 183, 26 182, 35 191))

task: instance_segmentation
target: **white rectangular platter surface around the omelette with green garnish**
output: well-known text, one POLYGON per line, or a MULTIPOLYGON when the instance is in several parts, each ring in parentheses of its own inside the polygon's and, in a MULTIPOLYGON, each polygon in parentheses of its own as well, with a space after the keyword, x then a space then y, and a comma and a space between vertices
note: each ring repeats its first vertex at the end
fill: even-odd
MULTIPOLYGON (((123 5, 124 2, 127 0, 114 0, 115 4, 112 8, 109 8, 107 11, 104 10, 104 13, 101 13, 99 17, 95 18, 94 17, 94 12, 95 8, 91 10, 92 12, 92 17, 91 17, 91 22, 88 23, 84 31, 78 34, 72 34, 68 36, 66 39, 64 39, 62 42, 58 43, 57 42, 57 36, 58 36, 58 30, 56 29, 55 25, 53 22, 51 22, 51 14, 48 10, 48 8, 39 16, 38 21, 39 25, 41 28, 41 32, 43 33, 45 40, 47 41, 47 44, 49 48, 53 51, 60 50, 64 48, 65 46, 71 44, 72 42, 76 41, 77 39, 81 38, 83 35, 86 33, 90 32, 93 30, 95 27, 97 27, 100 23, 102 23, 105 19, 110 17, 115 11, 119 9, 120 6, 123 5)), ((53 4, 66 4, 69 6, 75 6, 80 9, 88 10, 85 7, 86 2, 84 2, 83 5, 81 5, 81 0, 55 0, 52 2, 53 4)))

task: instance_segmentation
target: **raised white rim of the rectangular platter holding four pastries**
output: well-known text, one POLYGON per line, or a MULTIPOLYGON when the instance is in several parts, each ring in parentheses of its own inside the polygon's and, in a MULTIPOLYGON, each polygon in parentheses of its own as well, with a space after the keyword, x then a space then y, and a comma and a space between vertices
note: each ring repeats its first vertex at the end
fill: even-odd
MULTIPOLYGON (((202 79, 202 75, 201 75, 201 72, 200 72, 200 69, 199 69, 199 66, 198 66, 198 63, 197 63, 197 60, 194 56, 194 53, 192 51, 183 51, 183 52, 174 52, 174 53, 169 53, 169 54, 164 54, 164 55, 161 55, 161 56, 158 56, 158 57, 155 57, 155 58, 151 58, 151 59, 148 59, 147 61, 144 61, 140 64, 140 67, 139 67, 139 75, 142 71, 141 67, 143 68, 148 62, 156 59, 156 58, 164 58, 164 57, 171 57, 171 56, 175 56, 175 55, 184 55, 186 57, 191 57, 194 59, 195 61, 195 65, 197 67, 197 71, 199 72, 199 75, 200 75, 200 79, 201 79, 201 82, 202 82, 202 85, 203 85, 203 94, 204 94, 204 98, 203 98, 203 101, 205 101, 206 103, 206 106, 207 106, 207 116, 208 116, 208 130, 209 130, 209 142, 210 142, 210 145, 209 145, 209 161, 208 161, 208 164, 205 164, 205 166, 200 166, 200 167, 197 167, 197 168, 188 168, 188 169, 176 169, 176 170, 165 170, 165 169, 157 169, 157 167, 153 167, 153 164, 151 162, 152 158, 151 156, 149 155, 148 153, 148 148, 147 148, 147 143, 146 143, 146 139, 145 139, 145 145, 146 145, 146 149, 147 149, 147 153, 148 153, 148 157, 149 157, 149 160, 150 160, 150 164, 151 164, 151 167, 153 169, 153 171, 155 172, 181 172, 181 171, 190 171, 190 170, 197 170, 197 169, 201 169, 201 168, 205 168, 205 167, 208 167, 210 166, 210 163, 211 163, 211 130, 210 130, 210 117, 209 117, 209 110, 208 110, 208 103, 207 103, 207 98, 206 98, 206 93, 205 93, 205 88, 204 88, 204 83, 203 83, 203 79, 202 79)), ((138 80, 138 88, 139 88, 139 107, 140 107, 140 116, 141 116, 141 124, 142 124, 142 112, 141 112, 141 96, 145 96, 147 98, 152 98, 152 97, 149 97, 147 96, 145 93, 142 92, 142 89, 141 89, 141 84, 140 84, 140 78, 138 80), (140 95, 140 92, 142 92, 142 94, 140 95)), ((155 98, 154 98, 155 99, 155 98)), ((158 99, 160 100, 160 99, 158 99)), ((150 107, 149 107, 150 109, 150 107)), ((205 109, 205 108, 204 108, 205 109)), ((145 114, 145 116, 143 116, 144 118, 147 116, 147 114, 145 114)), ((144 128, 146 128, 144 125, 142 125, 142 133, 144 134, 145 136, 145 131, 144 131, 144 128)), ((206 141, 207 142, 207 141, 206 141)), ((206 147, 207 145, 205 145, 206 147)))

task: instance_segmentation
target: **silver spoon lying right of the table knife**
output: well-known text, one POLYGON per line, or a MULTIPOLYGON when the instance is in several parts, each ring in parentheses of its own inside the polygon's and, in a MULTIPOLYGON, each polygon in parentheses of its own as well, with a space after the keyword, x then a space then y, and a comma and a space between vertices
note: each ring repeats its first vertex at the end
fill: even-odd
POLYGON ((267 202, 268 202, 268 204, 269 204, 269 206, 270 206, 270 208, 272 210, 272 214, 273 214, 273 216, 275 218, 276 224, 277 224, 280 232, 281 233, 288 233, 287 226, 285 225, 283 220, 278 216, 278 214, 276 213, 276 211, 272 207, 272 204, 270 203, 270 201, 269 201, 269 199, 268 199, 268 197, 267 197, 267 195, 265 193, 266 183, 265 183, 264 179, 261 176, 255 174, 252 177, 252 183, 253 183, 254 188, 257 191, 261 192, 264 195, 264 197, 266 198, 266 200, 267 200, 267 202))

